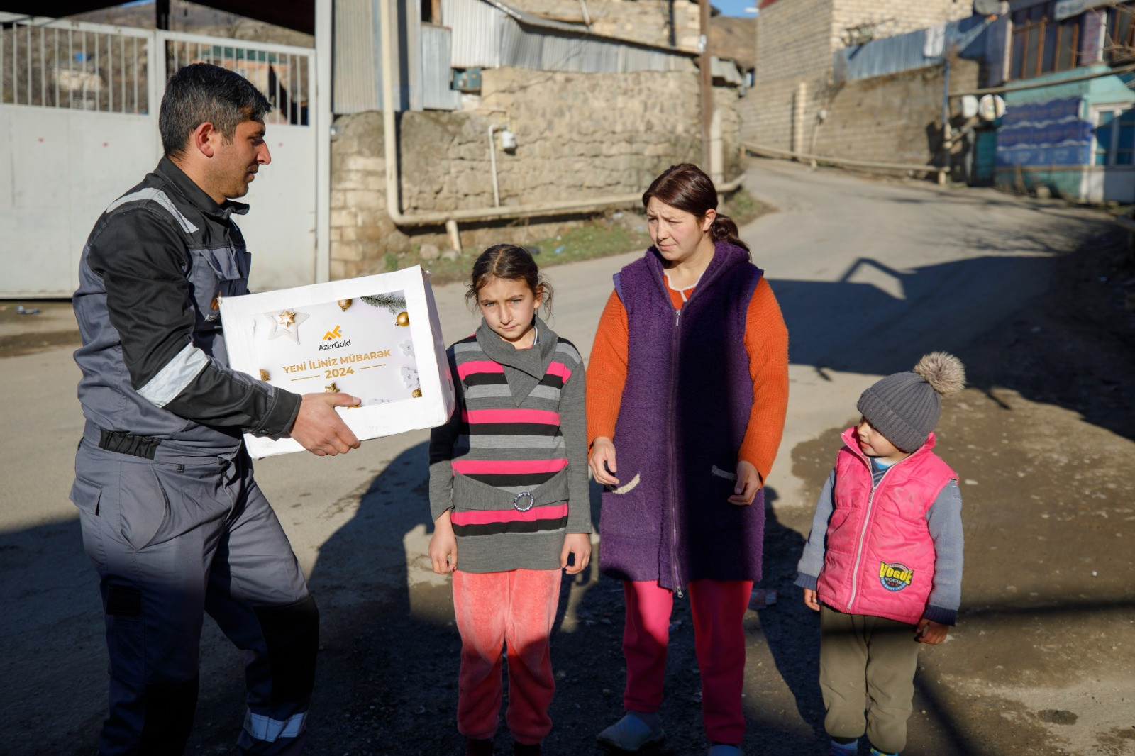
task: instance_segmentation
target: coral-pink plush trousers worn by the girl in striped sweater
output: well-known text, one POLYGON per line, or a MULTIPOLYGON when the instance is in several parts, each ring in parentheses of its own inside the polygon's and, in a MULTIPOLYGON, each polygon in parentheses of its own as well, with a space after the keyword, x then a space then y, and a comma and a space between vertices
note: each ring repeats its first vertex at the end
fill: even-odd
POLYGON ((560 600, 560 570, 453 573, 453 608, 461 633, 457 731, 496 734, 501 717, 502 647, 508 654, 508 711, 513 740, 537 744, 552 731, 555 692, 548 637, 560 600))

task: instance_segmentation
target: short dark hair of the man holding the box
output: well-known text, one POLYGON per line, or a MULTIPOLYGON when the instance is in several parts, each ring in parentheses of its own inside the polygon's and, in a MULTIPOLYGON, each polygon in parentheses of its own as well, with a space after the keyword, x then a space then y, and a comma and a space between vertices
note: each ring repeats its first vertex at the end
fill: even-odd
POLYGON ((271 109, 268 99, 239 74, 212 64, 186 66, 169 79, 161 98, 162 150, 167 158, 180 157, 190 134, 205 121, 232 142, 237 124, 263 120, 271 109))

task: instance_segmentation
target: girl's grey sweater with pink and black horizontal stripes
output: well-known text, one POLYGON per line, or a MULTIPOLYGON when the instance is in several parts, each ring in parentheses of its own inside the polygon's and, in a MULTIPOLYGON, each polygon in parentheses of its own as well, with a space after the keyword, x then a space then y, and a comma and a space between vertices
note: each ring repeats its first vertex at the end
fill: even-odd
POLYGON ((513 348, 481 321, 449 347, 456 409, 430 434, 430 511, 452 509, 457 569, 554 570, 564 535, 591 532, 583 361, 537 318, 513 348))

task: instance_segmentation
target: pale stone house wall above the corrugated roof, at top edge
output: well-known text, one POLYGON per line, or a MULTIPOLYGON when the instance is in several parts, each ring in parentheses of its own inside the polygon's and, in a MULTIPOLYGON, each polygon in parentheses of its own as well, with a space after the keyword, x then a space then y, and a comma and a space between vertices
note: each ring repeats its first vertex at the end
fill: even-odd
MULTIPOLYGON (((579 0, 510 0, 508 5, 556 20, 583 23, 579 0)), ((599 36, 698 49, 701 22, 698 3, 690 0, 587 0, 587 14, 591 32, 599 36)))

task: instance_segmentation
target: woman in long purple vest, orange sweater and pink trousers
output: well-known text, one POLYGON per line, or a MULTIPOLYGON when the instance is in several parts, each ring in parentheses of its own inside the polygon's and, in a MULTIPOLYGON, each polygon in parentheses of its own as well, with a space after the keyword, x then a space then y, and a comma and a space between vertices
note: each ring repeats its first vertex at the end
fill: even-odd
POLYGON ((599 564, 627 599, 625 716, 598 740, 633 753, 665 737, 670 614, 689 593, 709 754, 728 756, 745 738, 741 620, 760 579, 788 330, 705 173, 671 166, 642 204, 654 245, 615 275, 587 376, 599 564))

